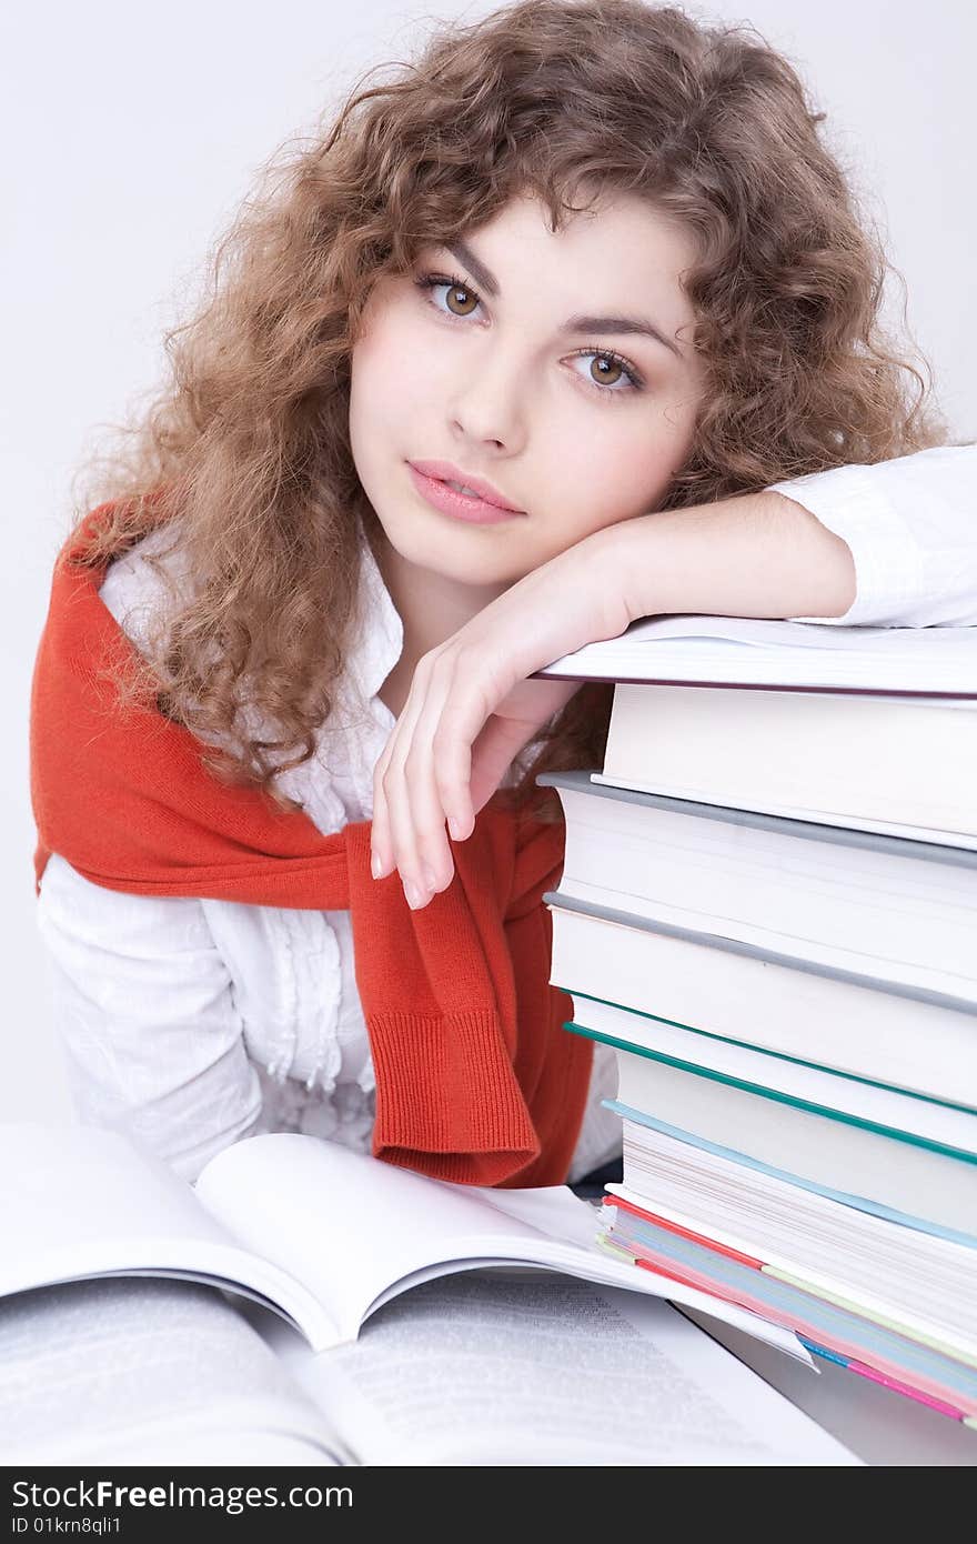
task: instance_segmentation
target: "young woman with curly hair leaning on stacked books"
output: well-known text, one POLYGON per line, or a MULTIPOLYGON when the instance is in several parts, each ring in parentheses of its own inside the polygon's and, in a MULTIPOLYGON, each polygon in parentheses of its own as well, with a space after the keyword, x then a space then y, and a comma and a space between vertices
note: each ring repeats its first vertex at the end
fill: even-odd
POLYGON ((610 687, 528 676, 656 611, 977 622, 975 452, 880 334, 818 122, 749 32, 523 0, 248 202, 39 655, 83 1119, 188 1178, 258 1130, 488 1183, 607 1156, 534 778, 600 764, 610 687), (349 892, 307 883, 340 846, 349 892))

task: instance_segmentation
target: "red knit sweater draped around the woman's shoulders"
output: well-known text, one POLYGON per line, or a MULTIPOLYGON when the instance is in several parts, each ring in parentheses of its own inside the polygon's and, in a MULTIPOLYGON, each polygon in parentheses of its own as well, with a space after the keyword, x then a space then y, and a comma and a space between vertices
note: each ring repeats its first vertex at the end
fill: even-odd
POLYGON ((133 648, 102 604, 103 573, 62 551, 31 699, 35 872, 59 852, 85 879, 140 896, 349 909, 377 1073, 374 1153, 469 1184, 559 1184, 583 1118, 591 1045, 568 1034, 549 985, 543 891, 563 826, 489 801, 452 843, 454 879, 411 911, 400 879, 370 875, 369 821, 321 835, 256 787, 225 787, 199 743, 125 709, 105 676, 133 648))

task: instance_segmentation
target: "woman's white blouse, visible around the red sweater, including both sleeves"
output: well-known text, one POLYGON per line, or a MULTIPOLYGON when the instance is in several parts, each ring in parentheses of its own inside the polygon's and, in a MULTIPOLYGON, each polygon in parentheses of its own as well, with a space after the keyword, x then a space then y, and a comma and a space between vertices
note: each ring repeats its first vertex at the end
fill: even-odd
MULTIPOLYGON (((855 560, 850 610, 804 621, 977 625, 977 446, 775 488, 841 536, 855 560)), ((153 540, 113 564, 102 587, 137 647, 161 585, 145 562, 153 540)), ((377 692, 400 658, 403 627, 366 540, 363 557, 360 633, 340 703, 315 755, 281 777, 324 834, 370 818, 374 766, 397 721, 377 692)), ((125 896, 57 854, 37 905, 79 1119, 127 1132, 187 1180, 265 1130, 369 1150, 374 1067, 349 913, 125 896)), ((571 1181, 619 1150, 620 1119, 600 1104, 614 1092, 613 1051, 597 1047, 571 1181)))

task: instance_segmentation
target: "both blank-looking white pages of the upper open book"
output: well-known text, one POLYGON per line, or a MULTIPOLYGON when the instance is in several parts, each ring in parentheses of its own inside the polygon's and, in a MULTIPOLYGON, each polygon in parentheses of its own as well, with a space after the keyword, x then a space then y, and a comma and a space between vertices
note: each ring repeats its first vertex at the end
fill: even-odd
MULTIPOLYGON (((508 1261, 708 1308, 705 1294, 636 1274, 594 1241, 591 1209, 565 1186, 449 1186, 333 1143, 245 1138, 194 1189, 116 1132, 0 1126, 0 1297, 96 1275, 208 1282, 278 1309, 313 1349, 353 1340, 383 1302, 451 1271, 508 1261)), ((809 1360, 800 1340, 730 1306, 741 1328, 809 1360)))

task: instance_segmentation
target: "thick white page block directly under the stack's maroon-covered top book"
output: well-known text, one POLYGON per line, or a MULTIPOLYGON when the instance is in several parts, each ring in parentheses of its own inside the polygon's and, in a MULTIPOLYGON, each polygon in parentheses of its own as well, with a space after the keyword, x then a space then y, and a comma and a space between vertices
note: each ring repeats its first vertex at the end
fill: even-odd
POLYGON ((594 783, 977 848, 977 701, 619 684, 594 783))

